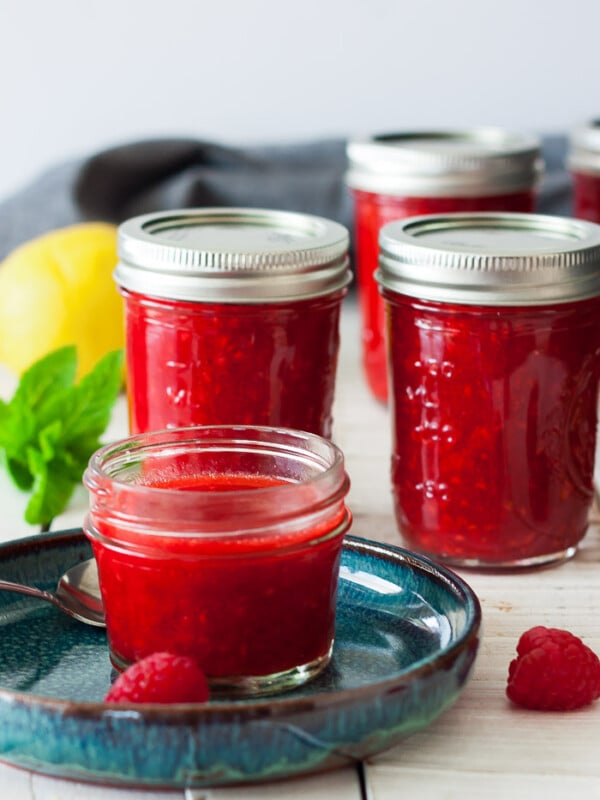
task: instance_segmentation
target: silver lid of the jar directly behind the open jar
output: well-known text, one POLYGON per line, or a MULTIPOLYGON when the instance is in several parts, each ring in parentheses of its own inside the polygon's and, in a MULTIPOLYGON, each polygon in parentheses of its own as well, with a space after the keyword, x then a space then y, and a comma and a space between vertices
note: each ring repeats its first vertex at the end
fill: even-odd
POLYGON ((119 227, 114 277, 173 300, 275 303, 347 286, 349 234, 322 217, 248 208, 163 211, 119 227))

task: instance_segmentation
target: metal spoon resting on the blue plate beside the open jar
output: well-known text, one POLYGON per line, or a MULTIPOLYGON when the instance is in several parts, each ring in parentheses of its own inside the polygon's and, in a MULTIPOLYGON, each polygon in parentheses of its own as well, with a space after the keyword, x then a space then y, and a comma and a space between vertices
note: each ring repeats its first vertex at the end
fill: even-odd
POLYGON ((25 586, 22 583, 3 580, 0 580, 0 590, 47 600, 80 622, 96 625, 99 628, 105 627, 98 570, 93 558, 68 569, 58 581, 54 594, 36 586, 25 586))

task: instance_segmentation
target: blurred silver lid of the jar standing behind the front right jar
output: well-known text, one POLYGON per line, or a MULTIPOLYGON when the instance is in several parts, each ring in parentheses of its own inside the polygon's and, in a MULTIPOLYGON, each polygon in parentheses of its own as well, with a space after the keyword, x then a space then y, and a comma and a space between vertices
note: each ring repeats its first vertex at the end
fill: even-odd
POLYGON ((543 172, 535 136, 501 128, 391 133, 351 141, 353 189, 405 197, 485 197, 535 187, 543 172))

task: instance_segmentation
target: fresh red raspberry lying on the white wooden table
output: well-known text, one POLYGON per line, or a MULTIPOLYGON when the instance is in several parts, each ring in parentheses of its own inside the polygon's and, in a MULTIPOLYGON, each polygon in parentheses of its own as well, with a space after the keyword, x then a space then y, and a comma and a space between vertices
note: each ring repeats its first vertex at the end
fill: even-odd
POLYGON ((570 711, 600 697, 600 659, 569 631, 526 631, 508 668, 513 703, 542 711, 570 711))

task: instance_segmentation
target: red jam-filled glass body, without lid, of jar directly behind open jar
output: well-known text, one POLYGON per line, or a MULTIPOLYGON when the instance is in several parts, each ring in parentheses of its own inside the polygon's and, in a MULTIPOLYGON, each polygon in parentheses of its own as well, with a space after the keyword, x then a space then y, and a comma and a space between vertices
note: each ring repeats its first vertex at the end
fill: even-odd
POLYGON ((245 424, 331 436, 345 289, 249 304, 121 293, 132 432, 245 424))

